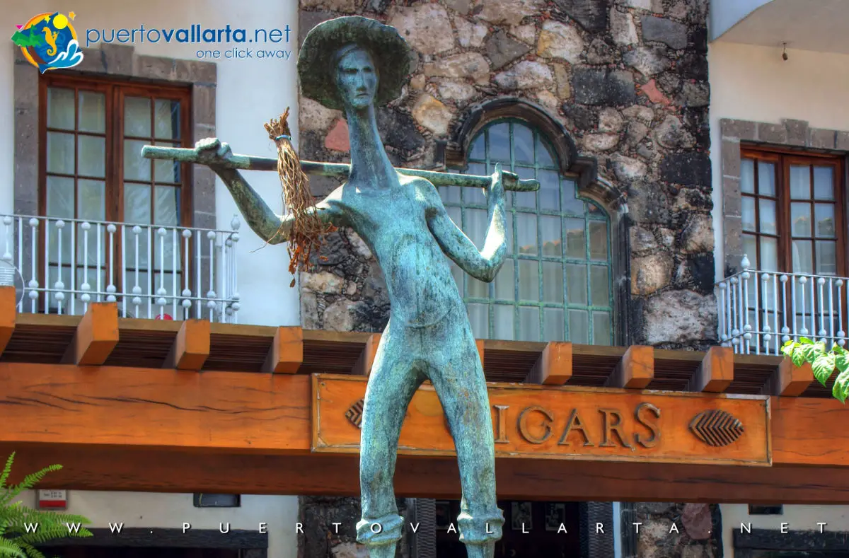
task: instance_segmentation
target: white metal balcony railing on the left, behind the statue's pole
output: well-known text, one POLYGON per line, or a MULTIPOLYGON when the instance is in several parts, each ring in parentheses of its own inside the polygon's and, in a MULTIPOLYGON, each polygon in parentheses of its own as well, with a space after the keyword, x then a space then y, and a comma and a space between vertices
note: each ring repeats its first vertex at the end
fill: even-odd
POLYGON ((231 227, 0 215, 0 279, 20 288, 20 312, 79 315, 116 302, 122 317, 235 322, 238 218, 231 227))

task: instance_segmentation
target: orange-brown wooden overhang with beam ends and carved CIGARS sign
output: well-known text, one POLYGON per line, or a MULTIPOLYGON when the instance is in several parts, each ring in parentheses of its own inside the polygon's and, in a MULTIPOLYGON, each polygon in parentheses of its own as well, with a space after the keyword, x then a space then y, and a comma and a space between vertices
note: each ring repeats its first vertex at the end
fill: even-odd
MULTIPOLYGON (((15 314, 0 288, 0 454, 17 452, 13 480, 62 464, 42 488, 358 494, 357 399, 379 339, 119 319, 114 304, 15 314)), ((849 504, 849 410, 808 367, 719 347, 478 347, 501 498, 849 504), (699 417, 720 430, 699 438, 699 417)), ((401 444, 397 494, 458 497, 427 385, 401 444)))

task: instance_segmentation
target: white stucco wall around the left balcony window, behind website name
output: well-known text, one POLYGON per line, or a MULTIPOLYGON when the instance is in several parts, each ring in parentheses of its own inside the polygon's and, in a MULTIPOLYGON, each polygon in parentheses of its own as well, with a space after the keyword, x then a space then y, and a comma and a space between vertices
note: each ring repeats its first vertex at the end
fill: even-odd
MULTIPOLYGON (((268 48, 292 51, 289 60, 218 59, 216 95, 216 131, 222 141, 229 142, 235 153, 276 157, 277 150, 269 142, 263 124, 291 107, 290 123, 297 124, 297 80, 295 57, 297 44, 297 0, 145 0, 139 3, 104 2, 104 0, 62 0, 46 2, 8 2, 3 6, 3 28, 14 31, 33 15, 59 11, 76 13, 73 25, 85 53, 87 29, 183 28, 200 24, 203 28, 244 28, 247 35, 254 30, 280 29, 290 26, 290 42, 268 45, 268 48)), ((11 34, 12 31, 9 31, 11 34)), ((13 64, 11 42, 2 39, 0 47, 0 214, 13 208, 13 64)), ((182 59, 197 59, 199 47, 220 48, 228 45, 191 43, 134 43, 138 53, 182 59)), ((237 46, 235 43, 231 47, 237 46)), ((239 45, 251 47, 250 44, 239 45)), ((297 136, 296 126, 293 132, 297 136)), ((297 143, 295 142, 295 147, 297 143)), ((283 210, 280 183, 276 173, 246 173, 251 185, 276 212, 283 210)), ((35 185, 34 185, 35 187, 35 185)), ((229 230, 233 215, 238 213, 233 199, 221 181, 216 187, 218 228, 229 230)), ((242 304, 239 322, 269 326, 299 323, 298 289, 290 288, 289 258, 283 246, 260 248, 263 242, 247 226, 242 225, 239 241, 239 294, 242 304)))

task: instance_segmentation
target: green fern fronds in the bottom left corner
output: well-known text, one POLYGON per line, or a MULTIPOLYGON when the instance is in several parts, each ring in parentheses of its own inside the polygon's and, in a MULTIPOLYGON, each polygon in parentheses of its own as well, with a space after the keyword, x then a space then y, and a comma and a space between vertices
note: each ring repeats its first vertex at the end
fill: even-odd
POLYGON ((0 473, 0 557, 46 558, 37 550, 37 544, 53 538, 93 536, 85 527, 71 527, 91 523, 83 516, 32 510, 21 504, 20 500, 13 501, 24 490, 33 488, 48 472, 59 471, 61 465, 45 467, 27 475, 19 484, 6 486, 13 461, 14 453, 8 456, 6 466, 0 473))

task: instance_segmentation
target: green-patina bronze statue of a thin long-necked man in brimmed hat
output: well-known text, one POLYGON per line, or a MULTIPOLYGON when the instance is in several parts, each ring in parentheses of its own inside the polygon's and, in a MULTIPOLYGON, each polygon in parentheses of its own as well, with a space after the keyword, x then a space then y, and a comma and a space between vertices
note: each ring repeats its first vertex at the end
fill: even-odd
MULTIPOLYGON (((363 518, 357 540, 368 545, 373 558, 395 555, 403 522, 392 483, 398 435, 413 393, 430 380, 457 448, 461 540, 469 558, 492 558, 504 521, 496 504, 492 417, 481 358, 449 259, 479 281, 494 280, 507 253, 503 172, 496 165, 486 187, 486 235, 478 250, 451 220, 432 182, 392 167, 374 107, 401 92, 409 58, 410 48, 394 28, 345 17, 310 31, 298 60, 303 94, 344 110, 350 133, 347 181, 315 211, 363 237, 383 271, 391 304, 363 410, 363 518)), ((227 144, 203 140, 192 158, 221 176, 257 235, 273 243, 286 240, 278 229, 282 223, 286 232, 290 221, 275 215, 234 168, 227 144)))

